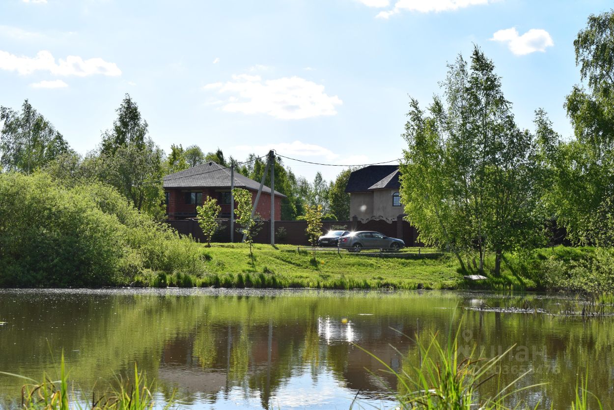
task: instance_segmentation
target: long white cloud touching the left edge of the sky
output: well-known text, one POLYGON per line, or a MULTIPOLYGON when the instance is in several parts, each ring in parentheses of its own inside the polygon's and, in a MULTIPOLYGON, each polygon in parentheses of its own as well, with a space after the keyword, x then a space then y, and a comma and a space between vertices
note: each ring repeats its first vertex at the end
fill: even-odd
POLYGON ((18 57, 0 50, 0 69, 17 71, 25 75, 35 71, 48 71, 56 76, 85 77, 95 74, 104 76, 120 76, 122 71, 115 63, 108 63, 102 58, 89 58, 84 60, 76 55, 69 55, 66 60, 55 58, 49 51, 39 51, 36 57, 18 57))

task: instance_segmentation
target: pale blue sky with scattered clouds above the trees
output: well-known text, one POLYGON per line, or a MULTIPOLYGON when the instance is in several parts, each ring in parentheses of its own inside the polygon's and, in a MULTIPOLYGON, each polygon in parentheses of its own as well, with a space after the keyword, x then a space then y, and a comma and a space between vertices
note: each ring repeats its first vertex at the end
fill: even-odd
MULTIPOLYGON (((124 93, 171 143, 314 162, 398 158, 408 95, 424 106, 446 63, 478 44, 521 127, 544 108, 571 134, 573 39, 607 1, 1 0, 0 105, 25 98, 78 152, 124 93), (514 30, 510 30, 514 29, 514 30)), ((287 161, 295 173, 339 169, 287 161)))

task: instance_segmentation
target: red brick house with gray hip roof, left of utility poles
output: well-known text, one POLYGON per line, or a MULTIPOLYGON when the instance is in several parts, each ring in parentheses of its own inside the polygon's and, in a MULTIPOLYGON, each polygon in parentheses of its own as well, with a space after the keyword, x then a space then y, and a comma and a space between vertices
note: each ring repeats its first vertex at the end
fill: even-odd
MULTIPOLYGON (((230 218, 230 169, 215 162, 188 168, 170 175, 163 181, 168 219, 185 219, 196 216, 196 207, 206 197, 217 199, 222 211, 220 218, 230 218)), ((260 183, 235 171, 235 187, 252 193, 252 205, 260 183)), ((275 220, 281 220, 281 199, 286 195, 274 193, 275 220)), ((235 203, 236 208, 236 203, 235 203)), ((264 220, 271 219, 271 188, 263 186, 256 212, 264 220)))

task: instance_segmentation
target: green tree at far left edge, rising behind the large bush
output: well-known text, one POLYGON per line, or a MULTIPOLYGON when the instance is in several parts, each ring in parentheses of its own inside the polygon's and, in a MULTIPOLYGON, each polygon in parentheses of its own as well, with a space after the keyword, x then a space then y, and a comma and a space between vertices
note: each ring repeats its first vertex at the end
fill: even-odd
POLYGON ((0 107, 0 163, 10 171, 31 173, 72 152, 63 136, 28 100, 21 111, 0 107))

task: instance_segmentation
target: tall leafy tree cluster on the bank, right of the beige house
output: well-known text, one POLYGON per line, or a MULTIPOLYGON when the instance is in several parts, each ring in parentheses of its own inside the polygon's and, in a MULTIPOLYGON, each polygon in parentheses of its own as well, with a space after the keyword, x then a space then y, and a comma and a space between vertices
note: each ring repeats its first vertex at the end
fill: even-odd
POLYGON ((540 243, 544 173, 540 141, 519 130, 494 65, 478 47, 470 66, 459 56, 425 116, 411 101, 401 166, 402 202, 426 243, 456 254, 495 254, 540 243))

